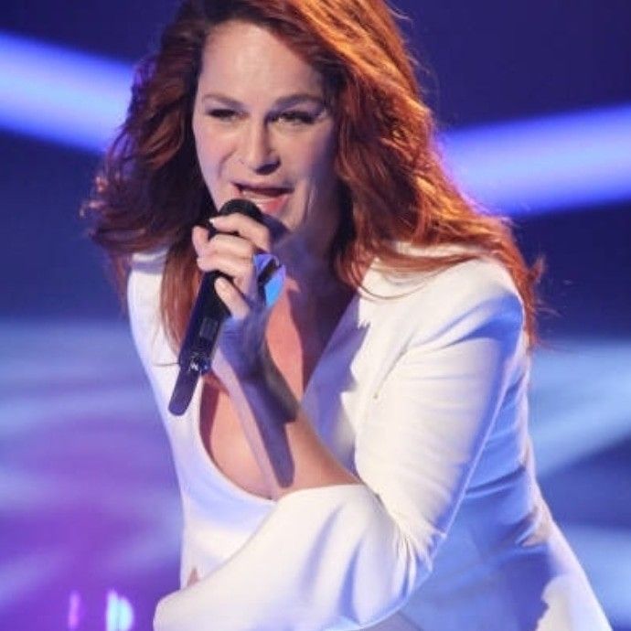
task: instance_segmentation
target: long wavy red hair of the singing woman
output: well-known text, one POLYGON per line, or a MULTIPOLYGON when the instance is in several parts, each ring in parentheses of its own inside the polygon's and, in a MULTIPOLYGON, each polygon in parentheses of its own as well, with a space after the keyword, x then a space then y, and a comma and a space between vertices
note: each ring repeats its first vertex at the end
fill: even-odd
POLYGON ((446 175, 414 62, 383 0, 183 0, 137 68, 126 119, 83 206, 121 288, 134 252, 166 248, 160 311, 174 345, 200 277, 190 230, 217 211, 198 166, 193 103, 207 38, 230 19, 269 28, 323 77, 337 120, 338 277, 357 285, 375 257, 401 273, 493 257, 518 288, 533 340, 539 268, 525 264, 507 222, 478 212, 446 175), (465 247, 422 256, 401 242, 465 247))

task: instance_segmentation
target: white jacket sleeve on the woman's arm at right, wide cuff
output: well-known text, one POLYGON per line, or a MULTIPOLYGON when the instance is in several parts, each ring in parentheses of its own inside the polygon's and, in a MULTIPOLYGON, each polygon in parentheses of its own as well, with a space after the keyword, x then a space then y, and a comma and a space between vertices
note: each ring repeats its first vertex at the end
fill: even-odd
POLYGON ((435 283, 449 305, 375 393, 356 436, 364 484, 282 497, 218 570, 158 604, 155 631, 341 631, 405 604, 432 571, 523 352, 507 274, 477 268, 473 284, 452 286, 451 271, 435 283))

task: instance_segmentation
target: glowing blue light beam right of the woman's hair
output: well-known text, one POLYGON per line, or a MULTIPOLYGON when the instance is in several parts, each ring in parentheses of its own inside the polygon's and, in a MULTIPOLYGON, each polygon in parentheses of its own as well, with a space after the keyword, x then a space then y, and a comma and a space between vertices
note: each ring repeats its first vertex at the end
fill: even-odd
POLYGON ((491 210, 631 198, 631 105, 455 130, 444 147, 456 181, 491 210))

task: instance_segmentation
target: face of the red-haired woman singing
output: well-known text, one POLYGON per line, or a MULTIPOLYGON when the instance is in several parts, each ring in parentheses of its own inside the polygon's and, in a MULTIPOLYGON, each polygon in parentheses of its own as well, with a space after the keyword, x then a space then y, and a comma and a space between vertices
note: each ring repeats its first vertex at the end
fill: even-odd
POLYGON ((336 124, 322 77, 305 59, 265 28, 216 27, 203 54, 193 133, 217 208, 251 199, 324 253, 337 229, 336 124))

